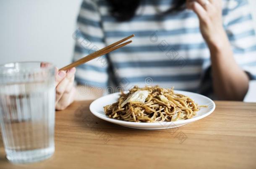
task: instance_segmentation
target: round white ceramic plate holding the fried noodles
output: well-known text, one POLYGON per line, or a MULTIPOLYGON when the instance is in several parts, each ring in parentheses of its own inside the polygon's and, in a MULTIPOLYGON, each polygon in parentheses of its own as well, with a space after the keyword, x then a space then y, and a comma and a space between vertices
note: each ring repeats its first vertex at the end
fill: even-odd
POLYGON ((185 96, 189 96, 199 105, 206 105, 208 107, 201 108, 201 110, 196 113, 196 116, 193 116, 193 118, 187 119, 187 120, 172 121, 172 122, 155 122, 155 123, 136 123, 136 122, 129 122, 129 121, 121 121, 117 119, 111 119, 108 116, 106 116, 104 113, 104 108, 103 108, 104 106, 118 101, 120 93, 113 93, 93 101, 90 105, 90 111, 92 114, 94 114, 95 116, 99 117, 102 120, 109 121, 114 124, 119 124, 121 126, 130 127, 133 129, 158 130, 158 129, 170 129, 174 127, 183 126, 188 123, 192 123, 194 121, 197 121, 199 119, 202 119, 208 116, 215 109, 215 103, 206 96, 203 96, 197 93, 187 92, 187 91, 175 91, 175 93, 180 93, 185 96))

